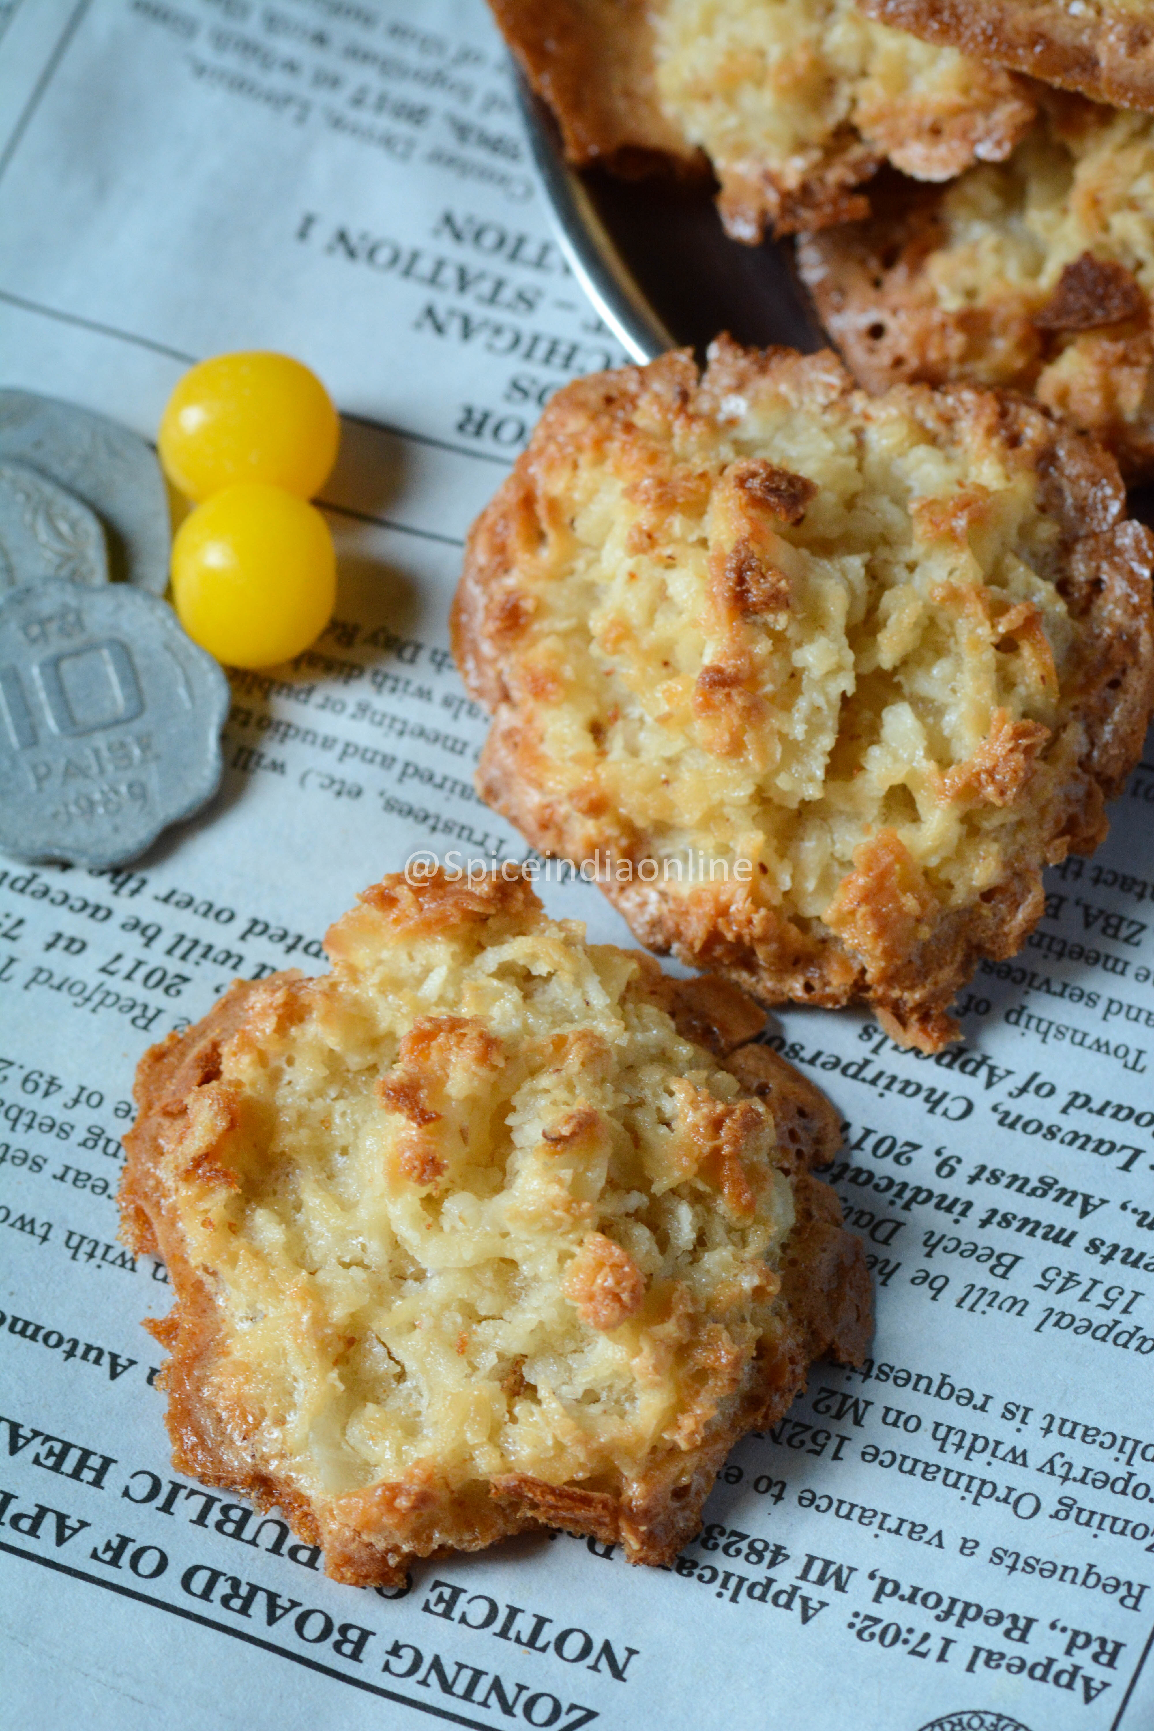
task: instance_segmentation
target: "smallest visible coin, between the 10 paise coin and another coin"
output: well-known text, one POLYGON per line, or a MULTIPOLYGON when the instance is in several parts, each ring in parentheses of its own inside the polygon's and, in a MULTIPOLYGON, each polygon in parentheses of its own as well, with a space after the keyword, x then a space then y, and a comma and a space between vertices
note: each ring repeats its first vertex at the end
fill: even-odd
POLYGON ((45 576, 107 583, 100 519, 26 462, 0 462, 0 589, 45 576))

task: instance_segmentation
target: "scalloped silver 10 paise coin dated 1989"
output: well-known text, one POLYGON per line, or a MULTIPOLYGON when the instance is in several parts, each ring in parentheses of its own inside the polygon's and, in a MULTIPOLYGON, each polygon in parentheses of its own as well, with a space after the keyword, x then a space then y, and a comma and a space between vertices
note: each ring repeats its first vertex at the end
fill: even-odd
POLYGON ((59 578, 0 597, 0 848, 121 866, 221 777, 228 680, 166 601, 59 578))

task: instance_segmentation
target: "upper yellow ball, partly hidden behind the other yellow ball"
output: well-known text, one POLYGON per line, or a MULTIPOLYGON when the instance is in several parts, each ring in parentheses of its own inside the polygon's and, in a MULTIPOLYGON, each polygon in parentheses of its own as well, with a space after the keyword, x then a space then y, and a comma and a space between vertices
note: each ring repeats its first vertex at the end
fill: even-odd
POLYGON ((216 355, 185 372, 161 417, 157 450, 189 499, 268 481, 299 499, 324 486, 341 424, 315 372, 261 350, 216 355))

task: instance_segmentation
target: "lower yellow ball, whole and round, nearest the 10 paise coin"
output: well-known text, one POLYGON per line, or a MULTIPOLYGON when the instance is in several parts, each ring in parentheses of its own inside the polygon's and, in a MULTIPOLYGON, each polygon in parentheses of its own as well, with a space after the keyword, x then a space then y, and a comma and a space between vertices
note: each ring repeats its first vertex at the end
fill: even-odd
POLYGON ((197 505, 173 542, 173 599, 194 642, 228 666, 291 661, 336 601, 336 552, 315 505, 240 481, 197 505))

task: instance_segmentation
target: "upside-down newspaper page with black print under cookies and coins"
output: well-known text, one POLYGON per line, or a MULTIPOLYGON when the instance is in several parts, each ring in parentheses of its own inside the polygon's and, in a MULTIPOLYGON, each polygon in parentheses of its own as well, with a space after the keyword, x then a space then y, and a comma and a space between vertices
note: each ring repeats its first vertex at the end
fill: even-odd
POLYGON ((540 405, 623 357, 481 0, 9 0, 0 123, 3 384, 152 436, 192 360, 279 348, 344 417, 337 616, 234 677, 215 805, 123 871, 0 860, 3 1724, 1149 1726, 1151 763, 962 1044, 772 1020, 846 1120, 877 1335, 734 1451, 671 1567, 552 1534, 355 1589, 171 1470, 166 1274, 116 1236, 137 1058, 237 975, 322 969, 412 855, 526 857, 472 789, 446 611, 540 405))

